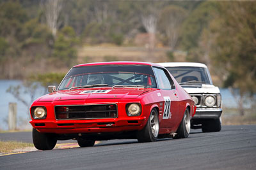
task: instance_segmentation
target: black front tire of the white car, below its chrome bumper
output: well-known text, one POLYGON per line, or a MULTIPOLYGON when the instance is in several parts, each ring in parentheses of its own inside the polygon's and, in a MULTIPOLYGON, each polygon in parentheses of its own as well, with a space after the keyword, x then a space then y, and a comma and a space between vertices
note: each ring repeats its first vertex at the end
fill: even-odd
POLYGON ((204 124, 202 125, 202 131, 203 132, 220 132, 221 131, 220 118, 205 121, 204 124))

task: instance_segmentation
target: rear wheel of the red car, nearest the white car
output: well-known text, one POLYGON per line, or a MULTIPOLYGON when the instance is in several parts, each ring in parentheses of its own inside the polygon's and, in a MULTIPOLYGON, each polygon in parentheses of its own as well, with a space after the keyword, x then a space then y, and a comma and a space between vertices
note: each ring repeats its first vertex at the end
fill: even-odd
POLYGON ((190 132, 190 115, 189 110, 186 108, 182 121, 180 122, 179 128, 176 131, 177 135, 173 139, 188 138, 190 132))

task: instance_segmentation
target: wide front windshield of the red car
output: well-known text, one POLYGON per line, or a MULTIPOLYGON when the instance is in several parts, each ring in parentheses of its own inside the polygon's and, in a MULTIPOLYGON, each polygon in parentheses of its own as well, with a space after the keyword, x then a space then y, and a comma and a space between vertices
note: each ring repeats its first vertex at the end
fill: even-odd
POLYGON ((73 67, 58 90, 88 87, 152 87, 156 79, 147 65, 97 65, 73 67))

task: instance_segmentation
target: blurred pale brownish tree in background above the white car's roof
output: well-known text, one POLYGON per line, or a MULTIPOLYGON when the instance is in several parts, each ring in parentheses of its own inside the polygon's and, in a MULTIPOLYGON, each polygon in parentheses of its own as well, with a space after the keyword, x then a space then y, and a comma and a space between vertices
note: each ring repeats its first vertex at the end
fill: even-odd
POLYGON ((180 25, 186 17, 186 11, 179 6, 166 6, 159 17, 159 31, 166 38, 168 46, 174 50, 180 34, 180 25))

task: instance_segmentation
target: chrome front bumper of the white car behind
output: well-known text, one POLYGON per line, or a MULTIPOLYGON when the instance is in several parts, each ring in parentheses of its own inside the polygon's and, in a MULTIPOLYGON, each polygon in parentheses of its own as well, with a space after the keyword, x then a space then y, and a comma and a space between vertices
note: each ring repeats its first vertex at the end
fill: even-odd
POLYGON ((217 119, 222 113, 221 108, 196 108, 196 113, 192 120, 196 119, 217 119))

